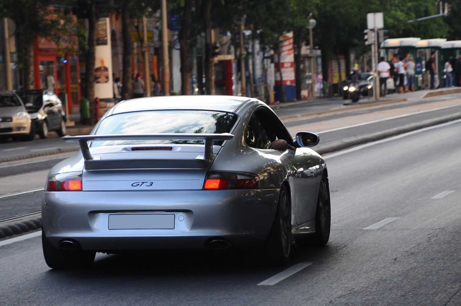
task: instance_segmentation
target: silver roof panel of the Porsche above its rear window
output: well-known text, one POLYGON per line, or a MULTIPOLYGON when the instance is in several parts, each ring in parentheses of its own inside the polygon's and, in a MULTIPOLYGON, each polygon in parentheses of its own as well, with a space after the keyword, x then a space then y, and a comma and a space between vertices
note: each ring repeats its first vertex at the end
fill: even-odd
POLYGON ((250 100, 252 98, 216 95, 137 98, 116 104, 111 115, 144 110, 217 110, 232 113, 250 100))

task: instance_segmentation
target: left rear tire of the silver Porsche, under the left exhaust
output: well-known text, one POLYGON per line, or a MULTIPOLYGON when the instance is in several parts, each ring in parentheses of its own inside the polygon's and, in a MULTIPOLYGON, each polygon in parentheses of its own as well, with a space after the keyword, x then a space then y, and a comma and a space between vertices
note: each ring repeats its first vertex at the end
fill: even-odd
POLYGON ((43 257, 47 265, 52 269, 70 270, 89 268, 95 261, 95 251, 83 250, 60 250, 51 244, 43 229, 41 230, 41 245, 43 257))

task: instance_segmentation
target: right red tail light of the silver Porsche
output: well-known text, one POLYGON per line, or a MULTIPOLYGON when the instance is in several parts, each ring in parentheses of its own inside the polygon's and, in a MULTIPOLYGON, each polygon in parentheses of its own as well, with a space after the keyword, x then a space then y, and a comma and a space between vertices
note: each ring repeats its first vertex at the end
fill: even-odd
POLYGON ((210 172, 203 184, 204 190, 258 188, 259 178, 251 173, 210 172))

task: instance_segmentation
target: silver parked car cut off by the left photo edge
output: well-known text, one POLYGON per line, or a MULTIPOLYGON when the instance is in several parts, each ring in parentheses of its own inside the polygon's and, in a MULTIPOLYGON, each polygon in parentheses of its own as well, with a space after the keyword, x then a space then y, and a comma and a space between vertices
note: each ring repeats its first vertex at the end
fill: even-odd
POLYGON ((19 137, 30 141, 35 137, 35 127, 30 115, 16 92, 0 92, 0 138, 19 137))

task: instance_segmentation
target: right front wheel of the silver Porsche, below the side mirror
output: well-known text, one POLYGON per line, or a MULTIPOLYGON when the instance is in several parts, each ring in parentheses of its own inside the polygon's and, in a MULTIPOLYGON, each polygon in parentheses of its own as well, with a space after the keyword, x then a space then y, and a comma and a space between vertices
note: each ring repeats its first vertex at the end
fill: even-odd
POLYGON ((296 239, 296 245, 301 248, 313 245, 325 245, 330 239, 331 204, 330 187, 326 174, 322 176, 315 209, 315 234, 309 237, 296 239))

